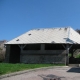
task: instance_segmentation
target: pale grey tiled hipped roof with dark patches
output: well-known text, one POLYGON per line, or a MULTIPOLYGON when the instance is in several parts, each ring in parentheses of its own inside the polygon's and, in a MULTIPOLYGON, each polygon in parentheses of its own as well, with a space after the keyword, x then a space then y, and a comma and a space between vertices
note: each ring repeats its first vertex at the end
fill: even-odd
POLYGON ((80 35, 71 27, 33 29, 6 44, 31 43, 80 44, 80 35))

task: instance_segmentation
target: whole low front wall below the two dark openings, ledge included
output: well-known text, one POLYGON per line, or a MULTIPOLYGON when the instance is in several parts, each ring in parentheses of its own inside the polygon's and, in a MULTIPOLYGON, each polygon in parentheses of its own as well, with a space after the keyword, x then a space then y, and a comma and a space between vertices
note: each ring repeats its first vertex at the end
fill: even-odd
POLYGON ((65 63, 65 51, 54 50, 54 51, 23 51, 20 55, 21 63, 65 63), (46 53, 45 53, 46 52, 46 53), (30 54, 29 54, 30 53, 30 54))

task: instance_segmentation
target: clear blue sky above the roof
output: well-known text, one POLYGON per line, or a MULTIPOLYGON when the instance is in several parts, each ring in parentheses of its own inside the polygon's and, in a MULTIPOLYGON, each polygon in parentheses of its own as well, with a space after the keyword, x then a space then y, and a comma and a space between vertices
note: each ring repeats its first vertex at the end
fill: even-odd
POLYGON ((0 40, 36 28, 80 29, 80 0, 0 0, 0 40))

